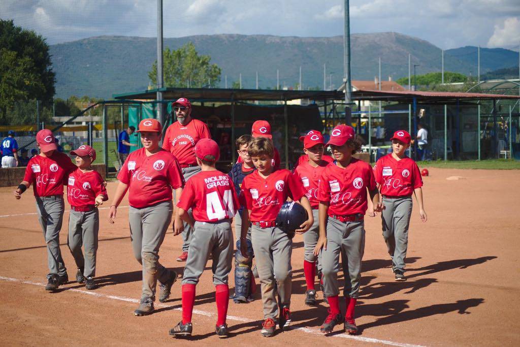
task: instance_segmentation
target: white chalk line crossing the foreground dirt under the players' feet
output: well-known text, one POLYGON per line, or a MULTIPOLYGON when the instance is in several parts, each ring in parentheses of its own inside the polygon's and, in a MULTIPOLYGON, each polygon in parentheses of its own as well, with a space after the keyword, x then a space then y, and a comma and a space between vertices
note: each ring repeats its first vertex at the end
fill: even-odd
MULTIPOLYGON (((12 277, 0 276, 0 280, 9 281, 9 282, 19 282, 19 283, 33 285, 33 286, 45 287, 45 285, 43 283, 33 282, 33 281, 24 281, 24 280, 17 279, 17 278, 12 278, 12 277)), ((76 289, 76 288, 67 288, 67 291, 73 291, 73 292, 77 292, 77 293, 87 294, 87 295, 90 295, 92 297, 97 297, 97 298, 107 298, 107 299, 112 299, 112 300, 132 302, 132 303, 136 303, 136 304, 139 303, 139 300, 137 300, 137 299, 120 297, 118 295, 109 295, 109 294, 103 294, 103 293, 99 293, 99 292, 81 290, 81 289, 76 289)), ((171 307, 170 305, 166 305, 166 304, 162 304, 162 303, 154 304, 154 306, 157 306, 157 307, 171 307)), ((174 310, 176 310, 176 311, 183 311, 182 307, 175 307, 174 310)), ((201 315, 201 316, 206 316, 206 317, 213 317, 213 316, 215 316, 215 314, 212 313, 212 312, 206 312, 206 311, 202 311, 202 310, 193 310, 193 313, 197 314, 197 315, 201 315)), ((243 318, 243 317, 237 317, 237 316, 229 316, 229 315, 227 316, 227 319, 235 320, 237 322, 244 322, 244 323, 255 322, 254 320, 249 319, 249 318, 243 318)), ((293 328, 291 330, 300 330, 300 331, 303 331, 303 332, 306 332, 306 333, 309 333, 309 334, 312 334, 312 335, 323 335, 323 333, 321 333, 317 329, 310 329, 310 328, 299 327, 299 328, 293 328)), ((421 345, 418 345, 418 344, 399 343, 399 342, 394 342, 394 341, 379 340, 379 339, 373 339, 373 338, 364 337, 364 336, 348 335, 348 334, 345 334, 345 333, 333 335, 331 337, 352 339, 352 340, 357 340, 357 341, 362 341, 362 342, 379 343, 379 344, 386 344, 386 345, 399 346, 399 347, 424 347, 424 346, 421 346, 421 345)))

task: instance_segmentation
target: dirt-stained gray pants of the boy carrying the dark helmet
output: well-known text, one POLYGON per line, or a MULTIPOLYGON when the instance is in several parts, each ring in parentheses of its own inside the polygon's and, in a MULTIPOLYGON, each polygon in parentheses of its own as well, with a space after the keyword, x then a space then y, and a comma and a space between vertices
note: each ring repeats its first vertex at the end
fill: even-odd
POLYGON ((251 228, 251 243, 262 288, 264 319, 276 319, 278 303, 290 306, 292 288, 292 240, 279 228, 251 228))

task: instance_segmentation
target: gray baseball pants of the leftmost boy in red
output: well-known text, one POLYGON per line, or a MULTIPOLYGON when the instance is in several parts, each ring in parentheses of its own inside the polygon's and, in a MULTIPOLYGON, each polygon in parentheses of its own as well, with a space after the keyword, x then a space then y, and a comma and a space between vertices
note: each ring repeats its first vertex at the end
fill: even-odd
POLYGON ((67 268, 61 258, 60 251, 60 230, 63 222, 63 211, 65 203, 62 195, 53 195, 36 198, 36 211, 38 212, 38 222, 42 226, 43 236, 47 243, 47 264, 51 275, 67 275, 67 268))

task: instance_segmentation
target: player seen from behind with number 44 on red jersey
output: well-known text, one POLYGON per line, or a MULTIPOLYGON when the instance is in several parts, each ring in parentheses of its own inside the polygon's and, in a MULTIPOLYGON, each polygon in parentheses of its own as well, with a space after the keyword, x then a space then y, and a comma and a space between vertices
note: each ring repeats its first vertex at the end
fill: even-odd
POLYGON ((228 276, 233 257, 231 218, 239 207, 237 193, 229 176, 215 169, 220 148, 215 141, 203 138, 195 146, 197 163, 202 171, 193 175, 183 190, 177 208, 179 216, 193 227, 193 239, 183 276, 183 320, 170 329, 173 336, 191 336, 191 315, 195 287, 211 253, 213 284, 217 304, 216 334, 228 336, 226 316, 229 302, 228 276), (192 209, 193 216, 187 213, 192 209))

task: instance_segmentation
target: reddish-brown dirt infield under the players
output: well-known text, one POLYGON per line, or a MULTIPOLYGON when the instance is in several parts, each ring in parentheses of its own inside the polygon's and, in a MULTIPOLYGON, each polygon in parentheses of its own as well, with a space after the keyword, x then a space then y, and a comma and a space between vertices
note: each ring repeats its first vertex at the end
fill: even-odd
MULTIPOLYGON (((200 284, 191 338, 196 344, 520 344, 519 171, 430 169, 424 196, 428 222, 412 213, 406 282, 395 282, 381 236, 379 216, 366 217, 366 249, 356 323, 361 334, 321 336, 326 307, 305 306, 303 238, 293 250, 293 329, 270 339, 259 335, 262 321, 259 285, 250 304, 229 303, 225 341, 214 335, 216 307, 208 263, 200 284), (460 178, 462 177, 462 178, 460 178), (447 179, 458 178, 458 179, 447 179)), ((114 194, 116 183, 108 186, 114 194)), ((140 297, 141 269, 133 258, 127 222, 127 200, 114 225, 108 209, 100 210, 97 280, 86 291, 75 281, 58 292, 46 292, 46 248, 37 223, 31 191, 21 200, 14 188, 0 188, 0 325, 3 345, 144 345, 186 343, 168 336, 181 319, 180 282, 171 299, 151 316, 133 315, 140 297)), ((108 204, 107 204, 108 205, 108 204)), ((68 210, 68 208, 66 208, 68 210)), ((75 266, 67 248, 68 212, 61 231, 61 251, 74 280, 75 266)), ((181 238, 171 232, 161 248, 161 262, 182 271, 175 261, 181 238)), ((233 278, 230 276, 230 293, 233 278)), ((322 299, 321 292, 318 292, 322 299)), ((343 308, 344 310, 344 308, 343 308)), ((339 327, 336 327, 336 330, 339 327)))

